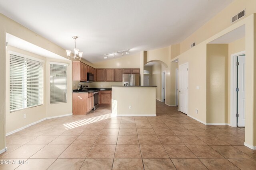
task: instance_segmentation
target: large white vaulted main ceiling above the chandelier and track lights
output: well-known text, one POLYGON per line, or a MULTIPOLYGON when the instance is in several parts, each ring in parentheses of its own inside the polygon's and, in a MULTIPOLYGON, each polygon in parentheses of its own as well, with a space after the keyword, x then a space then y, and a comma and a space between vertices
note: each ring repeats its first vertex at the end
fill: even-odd
POLYGON ((180 43, 232 1, 2 0, 0 13, 64 49, 77 35, 76 47, 95 63, 106 53, 180 43))

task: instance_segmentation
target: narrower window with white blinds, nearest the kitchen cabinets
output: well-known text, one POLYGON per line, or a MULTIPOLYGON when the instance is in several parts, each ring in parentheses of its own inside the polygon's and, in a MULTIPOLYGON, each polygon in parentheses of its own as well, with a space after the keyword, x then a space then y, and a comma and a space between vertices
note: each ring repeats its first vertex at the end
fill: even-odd
POLYGON ((67 69, 67 64, 50 63, 51 104, 67 102, 67 69))

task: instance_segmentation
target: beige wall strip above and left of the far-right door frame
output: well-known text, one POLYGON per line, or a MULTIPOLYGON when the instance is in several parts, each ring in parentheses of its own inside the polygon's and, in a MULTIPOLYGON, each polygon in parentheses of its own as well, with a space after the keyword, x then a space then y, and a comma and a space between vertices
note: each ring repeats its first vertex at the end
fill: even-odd
MULTIPOLYGON (((245 51, 245 37, 238 39, 232 43, 228 44, 228 96, 230 96, 230 68, 231 68, 231 55, 245 51)), ((232 99, 229 97, 228 98, 228 124, 230 124, 230 101, 232 99)))

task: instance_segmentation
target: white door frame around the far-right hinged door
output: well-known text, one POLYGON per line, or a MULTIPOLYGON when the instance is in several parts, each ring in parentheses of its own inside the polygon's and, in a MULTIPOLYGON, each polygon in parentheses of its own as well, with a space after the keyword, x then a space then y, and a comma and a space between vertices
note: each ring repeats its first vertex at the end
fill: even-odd
POLYGON ((232 127, 236 127, 236 57, 244 54, 245 51, 240 51, 230 57, 230 126, 232 127))

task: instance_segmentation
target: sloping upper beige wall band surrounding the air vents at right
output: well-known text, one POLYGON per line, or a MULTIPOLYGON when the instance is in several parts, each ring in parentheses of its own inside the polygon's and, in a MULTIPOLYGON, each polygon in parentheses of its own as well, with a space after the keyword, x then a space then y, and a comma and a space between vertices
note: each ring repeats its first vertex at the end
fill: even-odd
POLYGON ((210 21, 208 21, 206 24, 196 30, 192 35, 182 41, 180 44, 181 53, 184 53, 185 51, 190 49, 190 45, 193 42, 196 42, 196 45, 198 45, 202 41, 212 37, 223 29, 234 25, 230 23, 231 18, 244 9, 246 9, 245 17, 248 17, 256 12, 256 0, 235 0, 234 2, 232 2, 227 8, 222 10, 210 21))

